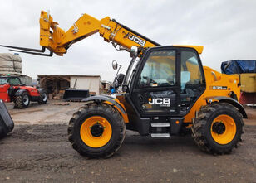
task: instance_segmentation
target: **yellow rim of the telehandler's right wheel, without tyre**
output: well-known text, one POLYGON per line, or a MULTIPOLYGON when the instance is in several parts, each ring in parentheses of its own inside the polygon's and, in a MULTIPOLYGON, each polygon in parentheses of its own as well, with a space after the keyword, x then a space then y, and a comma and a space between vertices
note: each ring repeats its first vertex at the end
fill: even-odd
POLYGON ((234 119, 225 114, 219 115, 214 118, 210 132, 215 142, 222 145, 228 144, 234 139, 236 133, 234 119))

